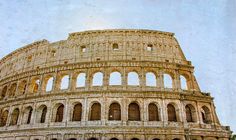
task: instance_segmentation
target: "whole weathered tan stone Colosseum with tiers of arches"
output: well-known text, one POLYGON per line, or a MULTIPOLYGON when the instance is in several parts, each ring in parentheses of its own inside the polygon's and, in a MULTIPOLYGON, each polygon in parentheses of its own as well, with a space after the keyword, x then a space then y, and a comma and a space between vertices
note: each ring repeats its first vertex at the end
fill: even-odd
POLYGON ((41 40, 0 60, 0 140, 229 140, 173 33, 41 40))

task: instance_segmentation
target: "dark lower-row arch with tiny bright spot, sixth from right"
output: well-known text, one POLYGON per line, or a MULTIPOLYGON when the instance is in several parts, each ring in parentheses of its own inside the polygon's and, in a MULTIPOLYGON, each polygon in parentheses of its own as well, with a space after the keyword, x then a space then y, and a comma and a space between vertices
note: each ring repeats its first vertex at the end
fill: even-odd
POLYGON ((109 107, 109 120, 121 120, 120 104, 112 103, 109 107))

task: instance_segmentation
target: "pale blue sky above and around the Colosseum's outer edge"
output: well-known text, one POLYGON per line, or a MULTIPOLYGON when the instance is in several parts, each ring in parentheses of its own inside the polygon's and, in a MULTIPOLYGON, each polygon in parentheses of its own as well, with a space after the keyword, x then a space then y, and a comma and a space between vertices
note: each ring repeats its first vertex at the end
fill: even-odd
POLYGON ((175 33, 221 123, 236 132, 235 0, 1 0, 0 58, 36 40, 108 28, 175 33))

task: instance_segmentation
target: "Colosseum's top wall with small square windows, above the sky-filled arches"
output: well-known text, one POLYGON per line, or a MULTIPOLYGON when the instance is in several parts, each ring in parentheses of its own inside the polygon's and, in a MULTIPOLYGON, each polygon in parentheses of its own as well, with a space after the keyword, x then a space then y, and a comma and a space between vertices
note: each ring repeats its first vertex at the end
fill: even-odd
POLYGON ((173 33, 152 30, 95 30, 67 40, 26 45, 0 61, 0 80, 45 67, 112 61, 168 62, 192 67, 173 33), (69 54, 69 55, 68 55, 69 54))

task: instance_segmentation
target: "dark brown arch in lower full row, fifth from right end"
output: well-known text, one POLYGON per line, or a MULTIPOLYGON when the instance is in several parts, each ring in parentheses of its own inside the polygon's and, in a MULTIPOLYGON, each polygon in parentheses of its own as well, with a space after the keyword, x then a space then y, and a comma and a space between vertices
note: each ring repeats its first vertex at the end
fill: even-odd
POLYGON ((140 110, 137 103, 129 104, 128 110, 128 120, 129 121, 140 121, 140 110))

